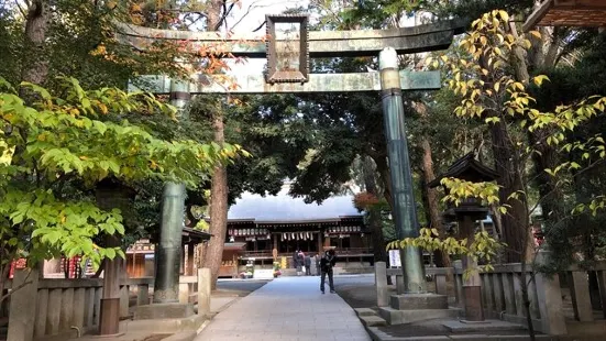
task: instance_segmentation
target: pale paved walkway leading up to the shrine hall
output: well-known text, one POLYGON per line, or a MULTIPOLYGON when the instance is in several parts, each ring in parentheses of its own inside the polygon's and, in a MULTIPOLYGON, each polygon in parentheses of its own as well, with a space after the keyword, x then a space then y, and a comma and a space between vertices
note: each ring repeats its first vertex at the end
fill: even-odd
POLYGON ((216 316, 196 341, 370 341, 353 309, 328 287, 322 295, 319 280, 274 279, 216 316))

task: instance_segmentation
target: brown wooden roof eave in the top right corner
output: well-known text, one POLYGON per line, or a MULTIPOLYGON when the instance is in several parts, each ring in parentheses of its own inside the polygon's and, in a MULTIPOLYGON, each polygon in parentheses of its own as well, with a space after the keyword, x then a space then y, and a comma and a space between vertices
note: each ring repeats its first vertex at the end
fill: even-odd
POLYGON ((543 0, 524 30, 535 26, 606 28, 606 0, 543 0))

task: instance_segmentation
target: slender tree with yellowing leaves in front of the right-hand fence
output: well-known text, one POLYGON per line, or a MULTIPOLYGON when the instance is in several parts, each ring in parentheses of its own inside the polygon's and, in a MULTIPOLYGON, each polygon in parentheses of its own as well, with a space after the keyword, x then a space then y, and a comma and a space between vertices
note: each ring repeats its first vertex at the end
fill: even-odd
MULTIPOLYGON (((542 136, 544 143, 555 146, 560 151, 571 152, 580 150, 583 152, 582 162, 585 167, 575 161, 564 161, 555 168, 544 168, 553 179, 557 190, 570 184, 570 177, 564 173, 579 172, 593 167, 595 162, 606 157, 604 139, 602 133, 591 136, 584 141, 566 141, 565 135, 573 132, 594 118, 604 113, 606 107, 605 97, 590 97, 573 103, 560 103, 553 111, 540 111, 536 108, 536 99, 529 95, 530 85, 516 79, 511 64, 518 61, 519 52, 529 50, 532 44, 530 36, 539 36, 539 32, 530 32, 528 36, 518 35, 513 31, 509 23, 509 15, 505 11, 492 11, 474 21, 473 31, 461 41, 461 47, 467 52, 466 56, 451 58, 443 56, 433 61, 433 65, 443 65, 452 75, 449 79, 449 87, 463 96, 461 106, 455 109, 458 117, 477 118, 484 120, 488 128, 498 127, 505 141, 513 152, 511 156, 517 161, 510 168, 508 176, 521 185, 521 189, 511 193, 506 200, 503 200, 503 188, 487 186, 486 184, 471 184, 456 179, 444 179, 442 183, 450 189, 447 200, 454 202, 466 197, 482 198, 488 204, 500 202, 499 210, 506 216, 511 215, 511 208, 521 209, 522 215, 516 212, 513 226, 520 232, 520 249, 516 249, 521 256, 522 272, 532 261, 531 252, 535 251, 530 216, 535 209, 546 199, 539 197, 535 204, 530 202, 531 188, 526 174, 526 166, 533 154, 541 153, 541 143, 529 144, 526 140, 529 132, 535 136, 542 136), (540 134, 537 134, 540 132, 540 134), (500 193, 496 196, 496 190, 500 193), (516 206, 511 204, 515 202, 516 206), (531 245, 532 244, 532 245, 531 245)), ((547 76, 539 75, 531 78, 532 84, 540 87, 543 81, 549 80, 547 76)), ((543 141, 541 141, 543 142, 543 141)), ((495 151, 496 153, 497 151, 495 151)), ((497 155, 495 155, 495 158, 497 155)), ((602 194, 593 194, 588 205, 581 202, 574 211, 585 209, 597 212, 605 207, 602 194)), ((573 211, 573 212, 574 212, 573 211)), ((547 243, 551 241, 549 230, 547 243)), ((531 279, 532 280, 532 279, 531 279)), ((533 329, 530 321, 528 299, 528 283, 522 282, 522 299, 526 307, 528 328, 533 338, 533 329)))

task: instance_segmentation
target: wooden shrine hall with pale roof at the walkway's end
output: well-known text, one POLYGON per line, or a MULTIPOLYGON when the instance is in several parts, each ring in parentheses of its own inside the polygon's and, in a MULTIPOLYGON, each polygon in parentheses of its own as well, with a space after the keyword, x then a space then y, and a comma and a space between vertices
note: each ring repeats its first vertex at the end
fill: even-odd
POLYGON ((225 242, 245 243, 242 260, 291 256, 297 250, 315 255, 335 249, 346 257, 372 257, 372 239, 353 196, 334 196, 321 205, 288 195, 286 183, 277 196, 243 194, 228 213, 225 242))

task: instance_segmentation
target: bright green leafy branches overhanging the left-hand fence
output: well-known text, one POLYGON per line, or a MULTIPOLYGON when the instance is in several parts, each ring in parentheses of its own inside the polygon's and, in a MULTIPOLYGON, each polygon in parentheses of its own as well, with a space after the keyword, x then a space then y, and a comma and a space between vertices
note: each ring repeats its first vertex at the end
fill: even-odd
POLYGON ((166 141, 128 118, 173 116, 175 109, 146 94, 115 88, 86 91, 62 78, 60 91, 3 79, 0 118, 0 240, 3 264, 18 255, 31 263, 58 254, 82 255, 97 264, 123 256, 120 248, 100 248, 93 239, 123 234, 120 210, 102 211, 88 195, 100 180, 181 182, 196 188, 218 163, 245 152, 238 145, 166 141), (26 105, 18 95, 31 91, 26 105), (79 186, 69 184, 79 183, 79 186))

